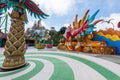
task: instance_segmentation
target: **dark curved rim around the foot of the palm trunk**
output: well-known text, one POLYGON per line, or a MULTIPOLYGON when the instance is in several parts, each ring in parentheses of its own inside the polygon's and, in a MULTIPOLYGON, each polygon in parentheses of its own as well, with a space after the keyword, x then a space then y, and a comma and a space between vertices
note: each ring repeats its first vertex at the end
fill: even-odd
POLYGON ((17 67, 0 67, 0 72, 7 72, 7 71, 13 71, 13 70, 17 70, 17 69, 20 69, 20 68, 23 68, 23 67, 26 67, 28 66, 29 63, 25 63, 21 66, 17 66, 17 67))

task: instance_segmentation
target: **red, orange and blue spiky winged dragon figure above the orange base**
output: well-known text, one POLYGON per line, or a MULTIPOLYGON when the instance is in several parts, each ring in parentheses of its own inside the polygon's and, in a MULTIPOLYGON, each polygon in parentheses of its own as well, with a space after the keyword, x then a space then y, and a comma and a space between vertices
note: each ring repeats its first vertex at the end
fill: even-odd
POLYGON ((78 15, 76 15, 75 20, 73 22, 73 26, 70 25, 68 28, 62 27, 60 29, 60 32, 64 34, 64 37, 66 38, 66 41, 68 41, 70 38, 74 38, 77 34, 84 35, 90 34, 94 26, 98 23, 103 21, 103 19, 95 20, 95 16, 100 10, 97 10, 91 17, 87 16, 90 10, 87 10, 84 14, 83 18, 79 20, 78 22, 78 15), (93 22, 94 21, 94 22, 93 22))

